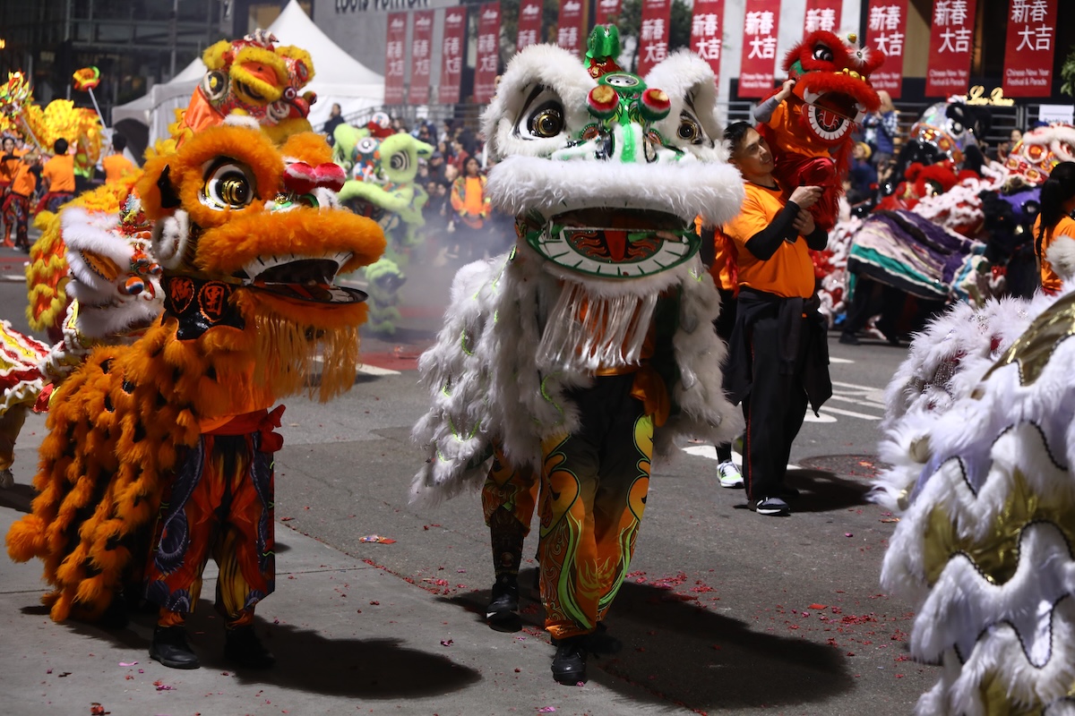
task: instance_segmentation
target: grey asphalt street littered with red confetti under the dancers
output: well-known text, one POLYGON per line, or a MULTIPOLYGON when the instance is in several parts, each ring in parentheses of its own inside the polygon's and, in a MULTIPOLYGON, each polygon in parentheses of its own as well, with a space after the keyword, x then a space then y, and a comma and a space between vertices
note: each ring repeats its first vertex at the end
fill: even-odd
MULTIPOLYGON (((25 327, 25 283, 11 280, 19 263, 0 251, 0 317, 25 327)), ((277 675, 236 676, 218 661, 166 670, 145 653, 150 617, 120 632, 53 625, 37 605, 40 567, 4 557, 0 624, 19 640, 0 649, 9 713, 85 714, 92 702, 113 714, 911 713, 940 669, 907 656, 914 614, 878 585, 895 518, 866 499, 884 388, 905 348, 830 337, 836 394, 792 451, 789 482, 802 496, 790 517, 757 515, 743 491, 720 488, 710 445, 655 464, 632 571, 607 618, 611 653, 591 658, 586 686, 562 687, 532 593, 521 632, 482 620, 492 566, 477 496, 420 511, 406 502, 422 459, 408 435, 427 405, 415 359, 450 275, 412 269, 401 332, 363 338, 367 365, 348 394, 286 400, 281 578, 258 612, 269 643, 289 655, 277 675), (61 663, 69 652, 81 673, 61 663)), ((43 430, 41 417, 24 429, 17 484, 0 493, 4 529, 28 510, 43 430)), ((527 554, 535 546, 536 530, 527 554)), ((525 585, 533 568, 524 565, 525 585)), ((196 619, 212 615, 205 603, 196 619)), ((204 632, 196 645, 219 648, 204 632)))

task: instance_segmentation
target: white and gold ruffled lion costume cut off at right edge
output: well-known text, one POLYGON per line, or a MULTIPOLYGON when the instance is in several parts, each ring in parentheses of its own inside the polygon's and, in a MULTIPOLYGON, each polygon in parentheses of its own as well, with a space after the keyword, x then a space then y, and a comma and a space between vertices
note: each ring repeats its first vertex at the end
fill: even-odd
POLYGON ((923 716, 1075 713, 1075 237, 1047 258, 1059 296, 955 307, 889 386, 882 583, 944 666, 923 716))

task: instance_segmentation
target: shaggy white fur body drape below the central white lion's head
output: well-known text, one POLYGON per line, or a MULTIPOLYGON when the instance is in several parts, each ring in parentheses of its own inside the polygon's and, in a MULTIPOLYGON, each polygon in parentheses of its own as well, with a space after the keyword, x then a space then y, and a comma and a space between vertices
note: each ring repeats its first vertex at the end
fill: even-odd
MULTIPOLYGON (((428 459, 412 484, 413 502, 434 503, 479 488, 493 441, 513 464, 540 468, 542 439, 577 428, 576 409, 564 394, 592 379, 582 371, 543 370, 535 361, 544 319, 561 281, 569 280, 551 271, 549 262, 520 245, 456 276, 444 327, 418 366, 434 401, 414 428, 428 459)), ((632 283, 641 288, 643 281, 649 291, 679 294, 672 339, 679 379, 668 385, 673 412, 655 430, 655 453, 668 455, 679 437, 732 439, 743 422, 720 390, 726 348, 713 330, 720 297, 712 278, 696 259, 632 283)), ((588 279, 586 286, 594 291, 600 283, 588 279)))

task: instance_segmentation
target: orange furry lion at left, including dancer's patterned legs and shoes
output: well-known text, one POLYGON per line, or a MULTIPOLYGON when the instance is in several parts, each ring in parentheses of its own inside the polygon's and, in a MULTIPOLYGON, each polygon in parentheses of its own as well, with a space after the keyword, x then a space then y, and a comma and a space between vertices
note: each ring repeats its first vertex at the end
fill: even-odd
POLYGON ((385 247, 377 224, 340 208, 344 175, 324 137, 277 148, 239 123, 146 163, 138 191, 164 313, 133 345, 96 350, 57 390, 40 494, 8 535, 13 559, 44 561, 57 622, 100 618, 144 562, 162 608, 150 655, 178 668, 198 666, 182 624, 211 551, 226 655, 271 663, 249 626, 273 590, 272 427, 283 408, 268 408, 315 369, 322 400, 350 386, 364 296, 331 282, 385 247))

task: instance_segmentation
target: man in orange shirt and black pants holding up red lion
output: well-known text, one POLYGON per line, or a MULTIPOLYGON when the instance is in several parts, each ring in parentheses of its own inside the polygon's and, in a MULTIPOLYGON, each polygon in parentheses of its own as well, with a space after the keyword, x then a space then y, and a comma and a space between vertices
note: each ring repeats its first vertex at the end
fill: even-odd
MULTIPOLYGON (((790 513, 784 484, 791 443, 807 405, 815 412, 832 395, 828 324, 818 312, 814 263, 829 235, 809 213, 820 187, 796 187, 788 196, 773 174, 769 144, 747 122, 725 130, 732 163, 745 179, 740 215, 723 225, 739 271, 735 326, 728 344, 725 391, 743 404, 743 477, 758 514, 790 513)), ((790 189, 790 187, 788 188, 790 189)))

